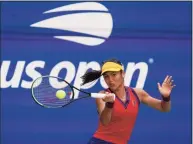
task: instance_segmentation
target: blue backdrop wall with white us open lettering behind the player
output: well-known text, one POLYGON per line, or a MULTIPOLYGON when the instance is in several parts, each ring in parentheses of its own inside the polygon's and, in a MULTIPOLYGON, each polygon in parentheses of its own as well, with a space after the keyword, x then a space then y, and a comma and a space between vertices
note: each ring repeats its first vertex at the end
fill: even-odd
MULTIPOLYGON (((190 144, 191 2, 100 2, 94 7, 88 3, 89 9, 84 3, 82 10, 69 11, 74 8, 70 4, 80 3, 1 2, 2 144, 85 144, 98 124, 95 101, 85 99, 65 108, 45 109, 33 101, 30 85, 37 76, 51 73, 63 78, 68 75, 68 80, 79 86, 87 64, 87 68, 99 68, 101 61, 112 57, 123 62, 126 85, 143 88, 155 98, 160 98, 157 82, 167 74, 177 85, 171 95, 171 112, 161 113, 141 104, 130 144, 190 144), (68 7, 44 13, 62 6, 68 7), (92 15, 95 12, 99 17, 92 15), (32 26, 80 13, 90 13, 94 23, 91 17, 80 21, 72 17, 57 22, 65 25, 66 31, 32 26), (95 29, 72 32, 68 24, 95 29), (54 36, 91 36, 93 41, 73 42, 54 36)), ((84 89, 97 92, 103 87, 98 81, 84 89)))

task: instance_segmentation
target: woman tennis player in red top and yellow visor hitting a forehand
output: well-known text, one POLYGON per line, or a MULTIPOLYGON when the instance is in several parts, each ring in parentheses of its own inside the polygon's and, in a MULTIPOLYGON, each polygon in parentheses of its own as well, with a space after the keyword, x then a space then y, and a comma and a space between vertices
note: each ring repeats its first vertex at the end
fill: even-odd
POLYGON ((104 98, 96 99, 99 113, 99 126, 88 144, 127 144, 129 142, 140 103, 144 103, 161 112, 171 109, 170 94, 174 88, 172 76, 166 76, 158 89, 162 100, 153 98, 146 91, 124 85, 123 65, 119 60, 110 59, 103 62, 101 71, 86 72, 82 79, 83 85, 104 77, 108 89, 104 98), (113 94, 115 94, 115 99, 113 94))

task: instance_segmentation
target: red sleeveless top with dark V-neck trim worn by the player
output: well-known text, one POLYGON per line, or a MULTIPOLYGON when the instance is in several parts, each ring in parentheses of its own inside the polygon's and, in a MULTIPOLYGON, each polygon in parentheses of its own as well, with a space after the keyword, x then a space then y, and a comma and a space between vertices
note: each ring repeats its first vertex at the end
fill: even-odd
POLYGON ((99 119, 98 129, 93 135, 95 138, 114 144, 127 144, 135 125, 140 101, 132 88, 126 87, 126 93, 125 103, 116 96, 111 122, 108 125, 102 125, 99 119))

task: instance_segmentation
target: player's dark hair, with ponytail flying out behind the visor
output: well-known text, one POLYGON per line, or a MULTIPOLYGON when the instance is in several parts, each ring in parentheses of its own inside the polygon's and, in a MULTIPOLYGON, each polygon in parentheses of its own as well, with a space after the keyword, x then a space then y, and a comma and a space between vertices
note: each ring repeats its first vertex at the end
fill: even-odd
MULTIPOLYGON (((108 59, 108 60, 105 60, 102 62, 102 66, 106 63, 106 62, 114 62, 114 63, 117 63, 119 65, 122 66, 122 63, 115 59, 115 58, 112 58, 112 59, 108 59)), ((81 78, 82 78, 82 84, 81 85, 84 85, 86 83, 89 83, 89 82, 92 82, 94 80, 97 80, 98 78, 101 77, 101 70, 100 71, 97 71, 97 70, 92 70, 92 71, 87 71, 81 78)))

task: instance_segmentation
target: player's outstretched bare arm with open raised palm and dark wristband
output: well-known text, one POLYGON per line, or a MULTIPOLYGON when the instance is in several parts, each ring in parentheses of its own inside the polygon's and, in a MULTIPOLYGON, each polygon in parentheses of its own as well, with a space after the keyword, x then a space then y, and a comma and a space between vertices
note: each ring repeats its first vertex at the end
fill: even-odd
POLYGON ((162 96, 162 100, 153 98, 146 91, 134 88, 142 103, 155 108, 162 112, 169 112, 171 109, 170 95, 172 89, 175 87, 173 84, 172 76, 166 76, 162 84, 158 83, 158 89, 162 96))

